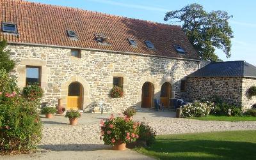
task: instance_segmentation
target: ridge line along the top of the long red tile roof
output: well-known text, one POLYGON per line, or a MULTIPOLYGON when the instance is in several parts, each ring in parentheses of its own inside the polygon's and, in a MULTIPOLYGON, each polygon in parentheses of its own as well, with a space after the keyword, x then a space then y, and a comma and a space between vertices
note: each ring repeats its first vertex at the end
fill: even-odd
POLYGON ((179 29, 181 28, 180 25, 163 24, 163 23, 154 22, 154 21, 151 21, 151 20, 142 20, 142 19, 139 19, 139 18, 123 17, 121 15, 111 15, 109 13, 103 13, 103 12, 100 12, 100 11, 83 10, 82 8, 74 8, 74 7, 70 7, 70 6, 61 6, 61 5, 54 5, 54 4, 38 3, 38 2, 31 2, 31 1, 26 1, 26 0, 7 0, 7 1, 20 1, 21 3, 31 3, 31 4, 36 4, 36 5, 52 6, 52 7, 55 7, 55 8, 65 8, 65 9, 68 9, 68 10, 87 11, 87 12, 92 12, 92 13, 96 13, 96 14, 99 14, 99 15, 106 15, 106 16, 109 16, 109 17, 124 18, 124 19, 128 19, 128 20, 129 19, 130 20, 138 20, 138 21, 147 22, 147 23, 150 23, 150 24, 166 25, 166 26, 169 26, 169 27, 175 27, 175 28, 179 28, 179 29))

